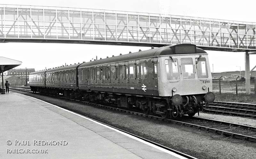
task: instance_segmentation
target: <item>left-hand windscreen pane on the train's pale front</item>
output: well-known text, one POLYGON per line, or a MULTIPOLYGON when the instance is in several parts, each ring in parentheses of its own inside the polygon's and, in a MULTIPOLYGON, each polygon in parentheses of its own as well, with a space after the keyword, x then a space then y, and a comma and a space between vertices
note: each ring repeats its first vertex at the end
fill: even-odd
POLYGON ((178 59, 173 58, 164 60, 167 80, 180 80, 178 59))

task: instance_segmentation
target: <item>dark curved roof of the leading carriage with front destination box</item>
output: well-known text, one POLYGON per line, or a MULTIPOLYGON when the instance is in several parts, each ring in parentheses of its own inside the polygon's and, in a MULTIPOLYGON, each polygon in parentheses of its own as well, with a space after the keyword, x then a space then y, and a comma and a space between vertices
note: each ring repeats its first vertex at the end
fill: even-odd
POLYGON ((93 66, 93 65, 101 65, 101 64, 110 64, 122 61, 130 61, 142 58, 149 57, 158 57, 164 55, 181 55, 181 54, 207 54, 203 49, 196 48, 196 45, 193 44, 176 44, 164 46, 156 49, 149 49, 134 53, 129 53, 125 55, 120 55, 116 57, 104 58, 96 61, 90 61, 81 64, 78 68, 93 66))

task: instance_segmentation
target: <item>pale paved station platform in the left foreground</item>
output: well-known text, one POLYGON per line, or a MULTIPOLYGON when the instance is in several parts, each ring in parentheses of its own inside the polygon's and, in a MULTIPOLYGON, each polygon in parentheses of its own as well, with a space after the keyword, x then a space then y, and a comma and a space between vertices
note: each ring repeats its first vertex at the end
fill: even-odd
POLYGON ((0 95, 0 158, 185 158, 33 97, 0 95))

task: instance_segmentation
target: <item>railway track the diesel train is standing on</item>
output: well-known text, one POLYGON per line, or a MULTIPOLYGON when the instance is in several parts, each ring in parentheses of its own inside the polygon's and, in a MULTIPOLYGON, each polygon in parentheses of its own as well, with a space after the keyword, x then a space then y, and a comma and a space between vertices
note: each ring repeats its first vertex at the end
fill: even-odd
MULTIPOLYGON (((20 90, 19 88, 10 88, 10 89, 20 90)), ((30 93, 32 92, 28 89, 27 90, 21 89, 20 91, 26 91, 26 92, 30 92, 30 93)), ((85 103, 86 105, 90 105, 90 106, 96 106, 96 107, 100 107, 100 108, 106 108, 109 110, 126 112, 126 113, 130 113, 133 115, 138 115, 138 116, 147 117, 147 118, 153 118, 153 119, 157 119, 157 120, 166 121, 169 123, 175 123, 177 125, 183 125, 183 126, 187 126, 187 127, 191 127, 191 128, 196 128, 196 129, 204 130, 206 132, 211 132, 211 133, 219 134, 222 136, 226 136, 228 138, 236 138, 236 139, 256 142, 256 127, 253 127, 253 126, 240 125, 240 124, 212 120, 212 119, 201 118, 201 117, 193 117, 192 119, 194 119, 194 120, 190 119, 190 121, 189 121, 190 123, 188 123, 186 119, 185 119, 186 122, 179 121, 179 120, 172 120, 172 119, 163 119, 162 117, 146 115, 146 114, 143 114, 140 112, 124 110, 124 109, 120 109, 120 108, 115 108, 115 107, 105 106, 105 105, 101 105, 101 104, 70 99, 70 98, 66 98, 66 97, 60 97, 60 96, 58 96, 58 97, 65 99, 65 100, 82 102, 82 103, 85 103), (207 127, 208 125, 211 125, 211 126, 207 127)))

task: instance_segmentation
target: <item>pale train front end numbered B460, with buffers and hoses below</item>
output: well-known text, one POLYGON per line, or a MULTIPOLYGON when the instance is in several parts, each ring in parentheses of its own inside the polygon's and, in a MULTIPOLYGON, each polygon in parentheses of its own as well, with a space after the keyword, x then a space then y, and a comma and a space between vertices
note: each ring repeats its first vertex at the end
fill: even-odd
POLYGON ((193 116, 205 102, 214 101, 207 54, 159 57, 159 65, 159 95, 170 97, 173 112, 193 116))

